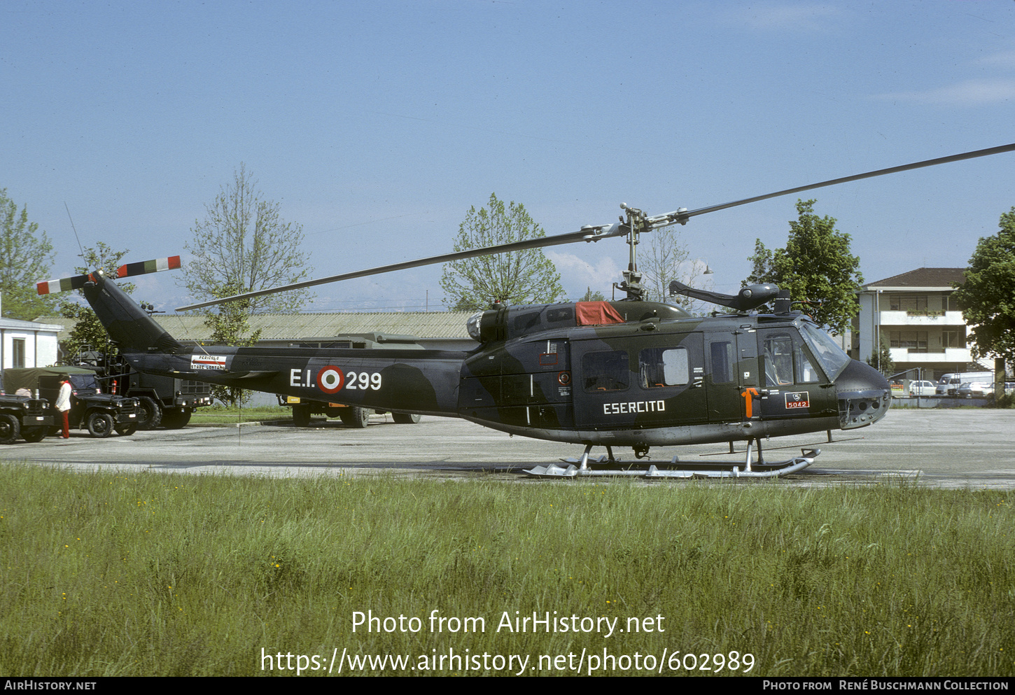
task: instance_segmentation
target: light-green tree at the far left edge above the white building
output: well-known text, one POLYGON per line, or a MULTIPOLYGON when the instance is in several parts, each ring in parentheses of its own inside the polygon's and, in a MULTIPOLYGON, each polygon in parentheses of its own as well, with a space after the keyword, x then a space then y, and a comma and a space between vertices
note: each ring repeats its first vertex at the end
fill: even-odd
POLYGON ((57 310, 60 299, 40 296, 36 283, 48 280, 53 265, 53 245, 39 224, 28 222, 28 208, 17 205, 0 189, 0 299, 3 316, 31 321, 57 310))

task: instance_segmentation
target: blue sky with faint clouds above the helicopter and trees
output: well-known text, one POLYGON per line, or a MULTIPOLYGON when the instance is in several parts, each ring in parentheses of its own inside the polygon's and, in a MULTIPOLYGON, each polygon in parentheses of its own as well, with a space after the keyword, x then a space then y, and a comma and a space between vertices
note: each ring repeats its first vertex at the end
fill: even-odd
MULTIPOLYGON (((50 277, 77 262, 65 203, 85 246, 181 254, 241 162, 317 277, 449 252, 491 192, 553 234, 1015 142, 1015 2, 4 0, 0 84, 0 188, 57 246, 50 277)), ((872 281, 965 266, 1013 175, 1009 153, 808 197, 872 281)), ((795 202, 678 229, 733 292, 795 202)), ((547 255, 570 296, 609 295, 626 251, 547 255)), ((308 308, 439 307, 439 274, 308 308)), ((185 282, 135 296, 172 309, 185 282)))

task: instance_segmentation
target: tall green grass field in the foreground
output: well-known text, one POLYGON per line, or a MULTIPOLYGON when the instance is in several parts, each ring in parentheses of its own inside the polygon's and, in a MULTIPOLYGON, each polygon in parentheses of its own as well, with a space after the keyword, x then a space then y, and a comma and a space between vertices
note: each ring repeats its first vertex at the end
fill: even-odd
POLYGON ((409 656, 342 662, 357 675, 431 664, 439 675, 571 674, 580 663, 585 674, 595 656, 596 673, 613 675, 688 673, 707 658, 753 676, 1011 676, 1013 501, 908 486, 4 465, 0 673, 247 676, 284 662, 281 673, 314 675, 345 649, 409 656), (432 611, 460 622, 431 623, 432 611), (353 632, 357 612, 392 620, 353 632), (503 627, 534 612, 574 616, 579 631, 503 627), (467 617, 485 629, 465 632, 467 617), (607 636, 600 618, 617 629, 607 636), (582 631, 592 624, 602 631, 582 631), (437 661, 452 652, 458 662, 437 661))

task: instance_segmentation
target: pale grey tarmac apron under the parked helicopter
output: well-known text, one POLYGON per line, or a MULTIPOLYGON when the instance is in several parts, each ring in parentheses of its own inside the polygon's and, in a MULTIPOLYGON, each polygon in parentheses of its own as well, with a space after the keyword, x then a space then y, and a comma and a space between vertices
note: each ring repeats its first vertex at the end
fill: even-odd
MULTIPOLYGON (((179 430, 137 432, 105 439, 75 430, 70 439, 0 447, 0 460, 71 470, 166 471, 267 476, 423 476, 438 479, 493 479, 529 484, 522 471, 534 465, 577 458, 582 446, 541 441, 453 418, 424 417, 418 424, 395 424, 390 415, 373 416, 365 429, 338 420, 296 428, 291 421, 223 422, 179 430)), ((762 440, 766 461, 788 459, 818 447, 814 464, 775 484, 869 485, 907 481, 937 488, 1015 489, 1015 410, 893 409, 880 422, 856 430, 762 440)), ((593 456, 604 454, 594 448, 593 456)), ((625 462, 630 449, 617 449, 625 462)), ((743 461, 744 442, 653 448, 649 463, 743 461)), ((604 480, 596 480, 602 484, 604 480)), ((716 484, 757 484, 724 479, 716 484)), ((579 483, 581 484, 581 483, 579 483)), ((688 482, 646 484, 686 485, 688 482)), ((770 484, 765 482, 764 484, 770 484)))

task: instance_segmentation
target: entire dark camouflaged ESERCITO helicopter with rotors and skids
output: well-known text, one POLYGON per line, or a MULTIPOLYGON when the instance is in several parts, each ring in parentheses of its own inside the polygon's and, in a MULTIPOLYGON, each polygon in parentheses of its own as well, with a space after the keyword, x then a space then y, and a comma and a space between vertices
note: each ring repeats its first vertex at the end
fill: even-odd
MULTIPOLYGON (((861 179, 1015 150, 1015 143, 695 210, 649 216, 621 205, 618 222, 574 232, 397 263, 370 270, 248 292, 178 310, 208 306, 485 254, 626 237, 626 297, 532 306, 494 306, 469 319, 471 351, 304 347, 188 347, 174 339, 100 271, 40 283, 40 293, 82 289, 112 340, 137 371, 242 387, 392 412, 460 417, 486 427, 585 445, 566 468, 537 466, 538 477, 638 475, 768 477, 813 463, 819 449, 766 463, 762 437, 854 429, 883 418, 891 403, 885 377, 851 359, 821 327, 791 310, 788 292, 771 284, 736 295, 679 282, 671 292, 733 310, 693 318, 675 305, 644 300, 638 235, 696 215, 861 179), (758 314, 771 303, 771 314, 758 314), (620 464, 613 447, 636 459, 653 446, 746 441, 742 461, 620 464), (594 446, 606 457, 592 459, 594 446), (757 448, 757 459, 752 448, 757 448)), ((179 257, 122 266, 116 277, 179 267, 179 257)))

